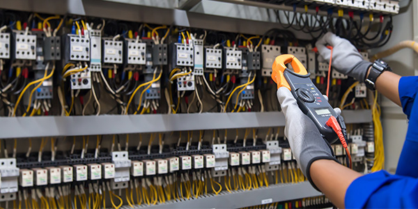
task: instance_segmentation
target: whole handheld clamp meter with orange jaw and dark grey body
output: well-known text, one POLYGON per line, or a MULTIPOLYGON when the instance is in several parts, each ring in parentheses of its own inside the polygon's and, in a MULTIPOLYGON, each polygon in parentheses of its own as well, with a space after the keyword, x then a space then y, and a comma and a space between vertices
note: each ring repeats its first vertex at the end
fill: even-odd
POLYGON ((326 123, 331 116, 338 118, 338 115, 312 83, 309 75, 304 65, 291 54, 282 54, 274 59, 272 79, 277 88, 286 87, 292 92, 302 112, 314 121, 319 132, 332 144, 339 137, 326 123), (288 63, 291 63, 294 71, 286 67, 288 63))

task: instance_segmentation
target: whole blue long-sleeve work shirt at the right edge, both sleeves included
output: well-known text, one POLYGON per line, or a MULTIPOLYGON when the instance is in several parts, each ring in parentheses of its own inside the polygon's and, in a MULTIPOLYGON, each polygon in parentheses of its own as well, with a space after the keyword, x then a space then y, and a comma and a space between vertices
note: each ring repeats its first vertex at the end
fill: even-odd
POLYGON ((346 208, 418 208, 418 77, 402 77, 398 91, 409 125, 396 174, 378 171, 354 180, 346 208))

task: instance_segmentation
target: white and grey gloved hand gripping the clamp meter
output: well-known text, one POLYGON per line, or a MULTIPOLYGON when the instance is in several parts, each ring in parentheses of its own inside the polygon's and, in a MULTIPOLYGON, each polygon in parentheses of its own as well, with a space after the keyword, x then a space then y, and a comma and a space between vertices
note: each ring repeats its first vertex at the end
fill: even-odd
MULTIPOLYGON (((277 98, 286 118, 284 135, 288 139, 292 153, 304 176, 307 176, 311 185, 316 188, 309 175, 312 162, 320 159, 338 161, 333 157, 332 148, 321 137, 314 122, 297 106, 297 101, 293 98, 291 91, 286 87, 280 87, 277 89, 277 98)), ((340 109, 335 110, 338 115, 341 114, 340 109)))

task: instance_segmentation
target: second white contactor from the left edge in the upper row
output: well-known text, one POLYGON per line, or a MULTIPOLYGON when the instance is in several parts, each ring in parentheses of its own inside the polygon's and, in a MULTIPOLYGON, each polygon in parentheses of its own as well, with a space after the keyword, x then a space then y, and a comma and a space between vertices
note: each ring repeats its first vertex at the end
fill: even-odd
POLYGON ((36 60, 36 36, 14 34, 13 59, 36 60))

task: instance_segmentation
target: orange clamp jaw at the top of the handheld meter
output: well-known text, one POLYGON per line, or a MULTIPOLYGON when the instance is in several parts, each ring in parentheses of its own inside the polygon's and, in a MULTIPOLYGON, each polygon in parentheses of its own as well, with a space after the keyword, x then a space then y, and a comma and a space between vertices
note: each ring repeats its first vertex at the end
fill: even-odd
POLYGON ((291 63, 293 70, 295 73, 300 75, 307 75, 307 69, 304 68, 304 65, 292 54, 282 54, 277 56, 274 59, 274 63, 272 65, 272 79, 277 84, 277 89, 280 87, 286 87, 291 91, 291 86, 286 81, 284 77, 284 70, 286 70, 286 64, 291 63))

